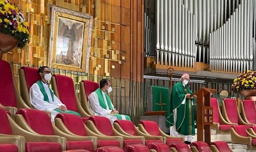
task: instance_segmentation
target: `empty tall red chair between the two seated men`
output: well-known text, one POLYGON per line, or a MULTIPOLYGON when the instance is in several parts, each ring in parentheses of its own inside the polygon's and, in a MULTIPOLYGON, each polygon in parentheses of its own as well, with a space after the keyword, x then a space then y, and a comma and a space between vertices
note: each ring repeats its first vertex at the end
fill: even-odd
POLYGON ((91 116, 84 111, 75 92, 73 79, 68 76, 54 74, 51 78, 51 88, 59 100, 66 105, 68 110, 78 112, 84 121, 87 122, 91 116))

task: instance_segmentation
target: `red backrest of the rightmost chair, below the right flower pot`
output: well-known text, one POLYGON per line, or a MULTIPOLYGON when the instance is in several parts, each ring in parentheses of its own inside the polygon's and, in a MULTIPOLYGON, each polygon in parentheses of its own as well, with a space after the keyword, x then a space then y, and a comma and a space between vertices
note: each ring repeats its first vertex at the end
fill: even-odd
POLYGON ((244 112, 250 123, 256 123, 256 108, 253 100, 242 100, 244 112))

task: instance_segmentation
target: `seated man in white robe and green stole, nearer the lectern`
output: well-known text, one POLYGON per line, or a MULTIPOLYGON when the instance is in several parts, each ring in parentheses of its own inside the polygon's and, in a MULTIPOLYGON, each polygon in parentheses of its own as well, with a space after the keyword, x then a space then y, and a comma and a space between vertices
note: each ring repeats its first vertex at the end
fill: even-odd
POLYGON ((100 88, 95 90, 89 95, 89 107, 94 115, 107 117, 113 124, 115 120, 131 120, 128 115, 120 115, 119 112, 114 108, 108 92, 112 91, 110 81, 108 79, 102 79, 100 81, 100 88))

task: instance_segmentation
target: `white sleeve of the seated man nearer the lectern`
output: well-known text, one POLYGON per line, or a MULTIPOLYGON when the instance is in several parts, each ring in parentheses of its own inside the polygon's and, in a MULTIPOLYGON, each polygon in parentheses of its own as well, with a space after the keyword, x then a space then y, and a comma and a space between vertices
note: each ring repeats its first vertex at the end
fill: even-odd
POLYGON ((94 113, 98 113, 100 115, 106 115, 111 113, 111 110, 106 110, 100 106, 99 98, 95 92, 92 92, 88 98, 89 107, 94 113))

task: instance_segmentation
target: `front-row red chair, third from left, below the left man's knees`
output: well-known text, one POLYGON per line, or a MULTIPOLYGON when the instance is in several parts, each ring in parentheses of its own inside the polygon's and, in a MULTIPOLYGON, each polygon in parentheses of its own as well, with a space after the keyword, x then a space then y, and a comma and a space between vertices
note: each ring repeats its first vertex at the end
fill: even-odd
POLYGON ((96 136, 98 147, 116 146, 123 148, 123 138, 119 136, 102 136, 91 131, 81 117, 67 113, 59 113, 55 117, 55 125, 66 134, 74 136, 96 136), (74 125, 75 124, 75 125, 74 125))

